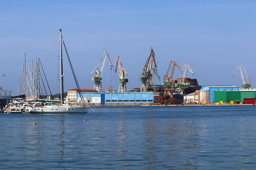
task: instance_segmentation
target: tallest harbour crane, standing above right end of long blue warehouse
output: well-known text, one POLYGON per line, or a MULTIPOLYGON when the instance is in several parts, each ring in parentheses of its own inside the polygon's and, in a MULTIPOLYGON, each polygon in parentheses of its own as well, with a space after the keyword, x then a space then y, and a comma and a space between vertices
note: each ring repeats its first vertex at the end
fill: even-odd
POLYGON ((141 91, 150 91, 151 87, 154 85, 154 74, 156 74, 157 78, 160 80, 160 76, 157 73, 157 65, 156 58, 153 48, 150 49, 150 55, 147 58, 145 66, 141 70, 141 77, 139 80, 141 81, 141 91))

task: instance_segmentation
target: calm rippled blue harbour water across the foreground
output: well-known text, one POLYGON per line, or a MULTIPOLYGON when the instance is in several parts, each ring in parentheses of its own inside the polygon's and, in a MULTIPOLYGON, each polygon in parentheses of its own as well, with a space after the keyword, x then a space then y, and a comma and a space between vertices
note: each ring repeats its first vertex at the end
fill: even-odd
POLYGON ((255 106, 0 114, 0 169, 255 169, 255 106))

